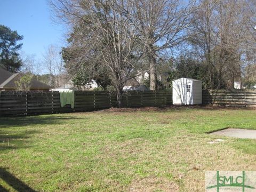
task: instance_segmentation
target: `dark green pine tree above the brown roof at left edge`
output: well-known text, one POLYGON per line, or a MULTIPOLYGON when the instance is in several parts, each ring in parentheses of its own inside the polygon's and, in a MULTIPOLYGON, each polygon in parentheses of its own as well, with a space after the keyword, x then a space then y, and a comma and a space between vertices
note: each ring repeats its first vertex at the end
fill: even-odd
POLYGON ((16 72, 22 66, 18 51, 22 47, 21 41, 23 36, 9 27, 0 25, 0 67, 5 70, 16 72))

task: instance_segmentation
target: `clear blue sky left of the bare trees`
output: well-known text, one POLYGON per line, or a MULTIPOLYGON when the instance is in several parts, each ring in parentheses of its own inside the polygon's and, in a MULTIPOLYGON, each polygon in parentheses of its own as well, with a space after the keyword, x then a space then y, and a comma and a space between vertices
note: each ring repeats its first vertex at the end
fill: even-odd
POLYGON ((0 0, 0 9, 0 25, 23 35, 25 54, 35 54, 40 61, 47 46, 64 44, 65 29, 52 22, 46 0, 0 0))

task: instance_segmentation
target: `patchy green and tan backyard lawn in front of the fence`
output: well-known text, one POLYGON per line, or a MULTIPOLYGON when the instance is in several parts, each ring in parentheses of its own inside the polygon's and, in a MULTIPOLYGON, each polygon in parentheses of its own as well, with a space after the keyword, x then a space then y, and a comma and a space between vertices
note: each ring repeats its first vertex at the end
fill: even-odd
MULTIPOLYGON (((206 170, 256 170, 256 110, 177 108, 0 118, 0 186, 35 191, 204 191, 206 170), (213 142, 215 139, 224 141, 213 142)), ((1 191, 1 187, 0 187, 1 191)))

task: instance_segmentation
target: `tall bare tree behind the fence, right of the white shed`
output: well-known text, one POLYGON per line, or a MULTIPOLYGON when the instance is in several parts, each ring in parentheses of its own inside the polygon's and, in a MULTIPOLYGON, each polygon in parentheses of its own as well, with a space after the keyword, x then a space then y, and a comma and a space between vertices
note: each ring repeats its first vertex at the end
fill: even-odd
POLYGON ((241 77, 241 59, 246 52, 252 12, 246 0, 201 0, 189 31, 194 55, 207 65, 211 89, 234 86, 241 77), (228 82, 229 81, 229 82, 228 82))

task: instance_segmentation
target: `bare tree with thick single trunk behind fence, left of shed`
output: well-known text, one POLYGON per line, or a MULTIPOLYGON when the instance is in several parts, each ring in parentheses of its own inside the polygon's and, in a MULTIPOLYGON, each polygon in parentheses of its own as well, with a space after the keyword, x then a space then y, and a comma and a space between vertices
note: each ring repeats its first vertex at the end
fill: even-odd
POLYGON ((149 62, 150 90, 156 89, 156 63, 164 51, 171 52, 186 39, 189 15, 195 1, 134 0, 139 39, 149 62))

